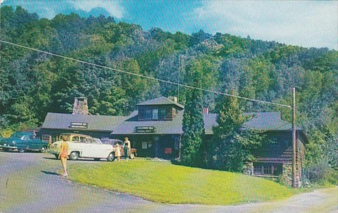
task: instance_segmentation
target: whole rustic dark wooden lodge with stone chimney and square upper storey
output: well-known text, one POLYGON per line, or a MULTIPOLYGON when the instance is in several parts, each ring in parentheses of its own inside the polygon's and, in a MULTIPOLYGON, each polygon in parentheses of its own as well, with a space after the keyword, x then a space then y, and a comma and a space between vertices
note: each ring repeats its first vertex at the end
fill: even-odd
MULTIPOLYGON (((158 97, 137 104, 129 116, 88 115, 87 99, 74 101, 73 114, 48 113, 41 133, 55 139, 61 133, 81 133, 97 138, 128 137, 141 157, 178 158, 180 156, 184 106, 175 97, 158 97)), ((244 172, 255 176, 282 178, 291 184, 292 140, 291 124, 281 119, 280 113, 249 113, 251 119, 243 130, 265 132, 274 143, 262 147, 254 162, 247 162, 244 172)), ((248 115, 248 114, 246 114, 248 115)), ((204 139, 210 141, 212 127, 217 125, 217 114, 203 111, 204 139)), ((301 184, 307 137, 297 128, 297 184, 301 184)), ((210 141, 211 142, 211 141, 210 141)))

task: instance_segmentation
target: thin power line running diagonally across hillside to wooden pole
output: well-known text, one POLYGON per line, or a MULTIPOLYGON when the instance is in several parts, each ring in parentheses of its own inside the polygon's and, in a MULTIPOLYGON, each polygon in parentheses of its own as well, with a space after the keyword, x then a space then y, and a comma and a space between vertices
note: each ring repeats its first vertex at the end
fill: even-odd
POLYGON ((194 87, 194 86, 189 86, 189 85, 185 85, 185 84, 179 84, 179 83, 175 83, 175 82, 171 82, 171 81, 166 81, 166 80, 163 80, 163 79, 158 79, 158 78, 154 78, 154 77, 150 77, 150 76, 144 76, 144 75, 141 75, 141 74, 130 73, 130 72, 127 72, 127 71, 124 71, 124 70, 121 70, 121 69, 111 68, 111 67, 108 67, 108 66, 102 66, 102 65, 99 65, 99 64, 95 64, 95 63, 91 63, 91 62, 87 62, 87 61, 82 61, 82 60, 75 59, 75 58, 70 58, 70 57, 67 57, 67 56, 62 56, 62 55, 54 54, 54 53, 51 53, 51 52, 47 52, 47 51, 43 51, 43 50, 38 50, 38 49, 31 48, 31 47, 26 47, 26 46, 18 45, 18 44, 14 44, 14 43, 3 41, 3 40, 0 40, 0 42, 5 43, 5 44, 10 44, 10 45, 13 45, 13 46, 17 46, 17 47, 21 47, 21 48, 25 48, 25 49, 29 49, 29 50, 33 50, 33 51, 36 51, 36 52, 45 53, 45 54, 48 54, 48 55, 57 56, 57 57, 60 57, 60 58, 65 58, 65 59, 72 60, 72 61, 77 61, 77 62, 80 62, 80 63, 92 65, 92 66, 97 66, 97 67, 101 67, 101 68, 106 68, 106 69, 114 70, 114 71, 120 72, 120 73, 125 73, 125 74, 129 74, 129 75, 133 75, 133 76, 138 76, 138 77, 142 77, 142 78, 146 78, 146 79, 151 79, 151 80, 154 80, 154 81, 160 81, 160 82, 164 82, 164 83, 168 83, 168 84, 173 84, 173 85, 176 85, 176 86, 182 86, 182 87, 186 87, 186 88, 190 88, 190 89, 198 89, 198 90, 205 91, 205 92, 211 92, 211 93, 215 93, 215 94, 236 97, 236 98, 240 98, 240 99, 244 99, 244 100, 249 100, 249 101, 253 101, 253 102, 259 102, 259 103, 264 103, 264 104, 277 105, 279 107, 291 108, 290 105, 285 105, 285 104, 280 104, 280 103, 274 103, 274 102, 269 102, 269 101, 264 101, 264 100, 257 100, 257 99, 253 99, 253 98, 247 98, 247 97, 241 97, 241 96, 238 96, 238 95, 232 95, 232 94, 228 94, 228 93, 217 92, 217 91, 213 91, 213 90, 209 90, 209 89, 204 89, 204 88, 199 88, 199 87, 194 87))

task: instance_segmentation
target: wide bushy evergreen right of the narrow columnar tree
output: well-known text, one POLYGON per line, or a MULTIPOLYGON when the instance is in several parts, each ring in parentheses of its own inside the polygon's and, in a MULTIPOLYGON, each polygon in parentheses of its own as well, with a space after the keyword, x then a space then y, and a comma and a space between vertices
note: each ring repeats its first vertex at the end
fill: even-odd
POLYGON ((243 130, 243 123, 249 117, 243 115, 237 98, 224 96, 218 109, 218 126, 213 128, 208 166, 241 171, 245 161, 252 160, 252 151, 261 145, 265 136, 253 130, 243 130))

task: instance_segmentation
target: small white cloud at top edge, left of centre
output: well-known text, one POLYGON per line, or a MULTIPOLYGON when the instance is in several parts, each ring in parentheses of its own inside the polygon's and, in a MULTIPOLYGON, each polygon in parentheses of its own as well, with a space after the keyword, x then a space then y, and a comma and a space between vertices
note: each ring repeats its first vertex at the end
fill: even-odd
POLYGON ((118 19, 121 19, 125 14, 125 9, 121 6, 120 1, 72 0, 69 1, 69 3, 71 3, 75 9, 86 12, 90 12, 90 10, 94 8, 103 8, 111 16, 114 16, 118 19))

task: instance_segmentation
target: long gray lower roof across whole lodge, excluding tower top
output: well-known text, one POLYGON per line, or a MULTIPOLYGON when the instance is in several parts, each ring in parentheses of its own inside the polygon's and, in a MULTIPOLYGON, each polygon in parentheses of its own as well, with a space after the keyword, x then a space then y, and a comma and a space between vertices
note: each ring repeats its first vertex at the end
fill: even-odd
MULTIPOLYGON (((137 121, 137 111, 128 117, 48 113, 42 129, 73 129, 69 127, 71 122, 84 122, 88 123, 88 128, 84 130, 111 131, 111 134, 135 134, 135 127, 138 126, 154 126, 157 134, 182 134, 183 112, 184 110, 179 111, 172 121, 137 121)), ((291 124, 281 119, 280 113, 245 113, 245 115, 251 115, 252 118, 244 123, 244 129, 269 131, 292 128, 291 124)), ((205 134, 212 134, 212 127, 217 125, 217 114, 203 114, 203 118, 205 134)))

